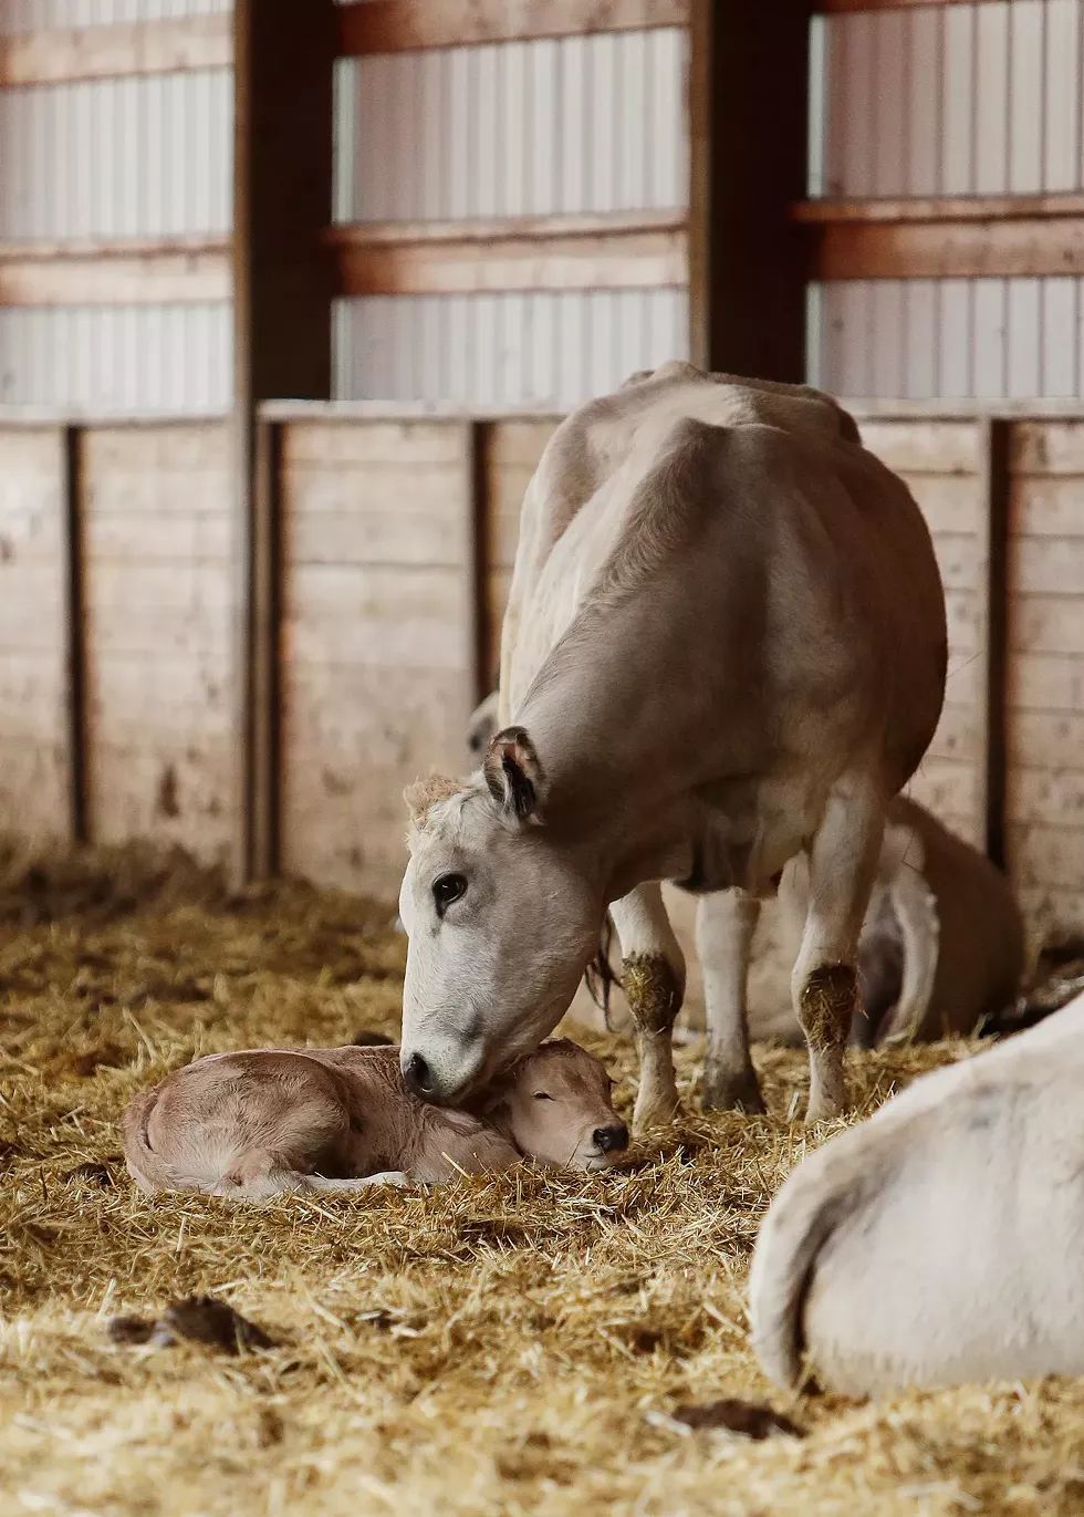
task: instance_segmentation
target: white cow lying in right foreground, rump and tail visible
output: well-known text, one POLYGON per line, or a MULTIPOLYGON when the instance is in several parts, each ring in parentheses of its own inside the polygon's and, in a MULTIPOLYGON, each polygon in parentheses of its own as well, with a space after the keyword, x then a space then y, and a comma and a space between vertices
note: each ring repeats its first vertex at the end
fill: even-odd
POLYGON ((766 1373, 852 1394, 1084 1374, 1082 1086, 1084 995, 800 1164, 753 1255, 766 1373))

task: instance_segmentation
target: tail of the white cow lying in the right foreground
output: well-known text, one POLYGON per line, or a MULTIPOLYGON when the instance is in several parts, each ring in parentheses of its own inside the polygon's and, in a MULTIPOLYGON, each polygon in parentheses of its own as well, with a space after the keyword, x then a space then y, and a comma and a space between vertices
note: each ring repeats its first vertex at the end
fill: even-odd
POLYGON ((826 1159, 823 1150, 807 1159, 779 1191, 757 1238, 749 1274, 753 1349, 769 1379, 785 1390, 808 1377, 804 1315, 817 1255, 855 1206, 849 1167, 828 1168, 826 1159))

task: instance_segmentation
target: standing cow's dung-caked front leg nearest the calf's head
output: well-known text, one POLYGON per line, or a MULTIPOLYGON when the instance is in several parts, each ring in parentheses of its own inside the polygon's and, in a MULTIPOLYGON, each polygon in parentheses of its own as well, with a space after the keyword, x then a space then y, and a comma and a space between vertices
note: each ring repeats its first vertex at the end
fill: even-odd
POLYGON ((640 1054, 632 1130, 669 1123, 678 1109, 672 1033, 685 995, 685 959, 658 884, 637 886, 609 909, 622 941, 622 989, 640 1054))

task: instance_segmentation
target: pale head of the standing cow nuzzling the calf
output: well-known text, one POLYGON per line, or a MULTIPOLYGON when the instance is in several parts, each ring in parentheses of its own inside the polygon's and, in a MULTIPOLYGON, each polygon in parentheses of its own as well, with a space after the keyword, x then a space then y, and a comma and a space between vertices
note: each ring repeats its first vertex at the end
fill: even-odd
POLYGON ((537 1048, 599 947, 605 903, 538 824, 537 758, 522 730, 509 733, 487 755, 488 786, 408 792, 402 1069, 441 1104, 537 1048))

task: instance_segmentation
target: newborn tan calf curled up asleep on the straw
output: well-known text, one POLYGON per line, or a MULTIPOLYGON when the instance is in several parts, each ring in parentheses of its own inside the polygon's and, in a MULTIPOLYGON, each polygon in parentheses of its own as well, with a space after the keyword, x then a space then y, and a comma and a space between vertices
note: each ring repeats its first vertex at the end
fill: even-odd
POLYGON ((220 1053, 177 1069, 124 1115, 124 1157, 143 1191, 264 1200, 355 1191, 526 1156, 605 1170, 628 1147, 605 1066, 567 1039, 520 1059, 470 1110, 429 1106, 397 1048, 220 1053))

